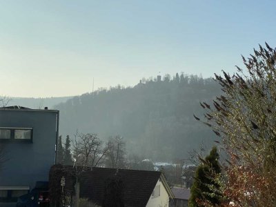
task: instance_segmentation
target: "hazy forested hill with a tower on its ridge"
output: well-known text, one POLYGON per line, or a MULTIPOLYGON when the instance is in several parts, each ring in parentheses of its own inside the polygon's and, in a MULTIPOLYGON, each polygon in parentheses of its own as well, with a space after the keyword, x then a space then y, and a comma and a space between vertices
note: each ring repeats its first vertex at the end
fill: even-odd
POLYGON ((184 159, 188 151, 216 139, 195 121, 203 115, 199 101, 221 93, 213 79, 178 74, 170 79, 140 81, 133 88, 117 86, 68 99, 60 110, 60 134, 97 133, 101 139, 121 135, 129 152, 155 160, 184 159))

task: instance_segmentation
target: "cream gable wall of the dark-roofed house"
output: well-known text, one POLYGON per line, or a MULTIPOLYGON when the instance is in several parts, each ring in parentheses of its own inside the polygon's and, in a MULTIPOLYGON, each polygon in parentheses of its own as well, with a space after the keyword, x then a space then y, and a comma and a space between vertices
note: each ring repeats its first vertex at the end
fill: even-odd
POLYGON ((157 181, 157 184, 155 186, 160 186, 160 195, 157 197, 150 196, 146 207, 168 207, 169 196, 166 188, 160 180, 157 181))

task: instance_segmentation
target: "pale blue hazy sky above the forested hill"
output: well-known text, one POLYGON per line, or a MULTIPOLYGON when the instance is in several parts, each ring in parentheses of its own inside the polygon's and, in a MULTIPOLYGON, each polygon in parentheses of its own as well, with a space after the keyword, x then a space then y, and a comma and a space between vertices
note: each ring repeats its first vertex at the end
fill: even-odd
POLYGON ((276 1, 0 1, 0 95, 81 95, 176 72, 213 77, 276 46, 276 1))

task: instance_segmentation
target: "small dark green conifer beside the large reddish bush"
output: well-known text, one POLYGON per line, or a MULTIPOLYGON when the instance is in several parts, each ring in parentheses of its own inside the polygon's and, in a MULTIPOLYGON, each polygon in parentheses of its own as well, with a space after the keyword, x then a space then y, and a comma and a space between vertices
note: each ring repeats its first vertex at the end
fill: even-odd
POLYGON ((205 160, 197 167, 195 172, 195 181, 190 189, 189 206, 204 206, 202 203, 208 203, 213 206, 221 201, 220 186, 216 177, 220 174, 219 154, 217 148, 213 147, 205 160))

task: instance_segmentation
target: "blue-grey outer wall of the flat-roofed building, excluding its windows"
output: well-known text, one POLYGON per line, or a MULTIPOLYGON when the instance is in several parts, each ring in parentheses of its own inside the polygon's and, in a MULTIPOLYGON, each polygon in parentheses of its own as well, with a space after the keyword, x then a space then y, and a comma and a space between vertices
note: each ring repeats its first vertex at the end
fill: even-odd
POLYGON ((57 110, 0 110, 0 127, 33 128, 32 143, 0 143, 8 159, 0 170, 0 188, 48 181, 55 164, 57 110))

